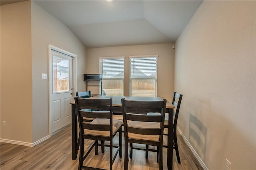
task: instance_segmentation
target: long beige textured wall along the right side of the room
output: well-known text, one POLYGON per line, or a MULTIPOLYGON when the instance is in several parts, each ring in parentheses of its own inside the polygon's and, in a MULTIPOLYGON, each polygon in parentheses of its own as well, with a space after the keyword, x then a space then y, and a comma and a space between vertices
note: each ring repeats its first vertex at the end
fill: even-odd
POLYGON ((178 127, 211 170, 256 169, 255 16, 255 1, 204 1, 176 41, 178 127))

